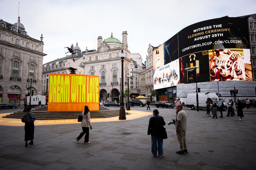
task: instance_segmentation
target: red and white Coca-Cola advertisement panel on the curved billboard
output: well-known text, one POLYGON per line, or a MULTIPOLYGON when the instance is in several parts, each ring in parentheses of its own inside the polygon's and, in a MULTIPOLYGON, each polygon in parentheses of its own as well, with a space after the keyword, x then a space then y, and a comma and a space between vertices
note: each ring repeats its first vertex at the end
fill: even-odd
POLYGON ((209 51, 211 81, 252 81, 250 49, 224 48, 209 51))

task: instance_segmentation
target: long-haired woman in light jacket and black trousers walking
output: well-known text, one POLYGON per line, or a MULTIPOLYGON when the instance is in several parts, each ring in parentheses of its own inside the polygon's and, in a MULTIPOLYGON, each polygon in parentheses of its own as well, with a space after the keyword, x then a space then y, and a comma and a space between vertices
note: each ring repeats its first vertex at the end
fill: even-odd
POLYGON ((83 120, 81 123, 83 131, 80 133, 80 135, 76 138, 76 141, 78 142, 85 134, 84 137, 84 144, 89 144, 89 126, 90 129, 92 129, 92 123, 91 123, 91 117, 90 117, 90 110, 87 105, 84 106, 84 111, 81 114, 83 116, 83 120))

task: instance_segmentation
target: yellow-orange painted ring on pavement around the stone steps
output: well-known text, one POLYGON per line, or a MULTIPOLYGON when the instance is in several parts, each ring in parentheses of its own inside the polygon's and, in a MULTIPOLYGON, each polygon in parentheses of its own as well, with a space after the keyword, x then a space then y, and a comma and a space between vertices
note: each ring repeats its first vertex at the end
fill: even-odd
MULTIPOLYGON (((143 112, 137 110, 126 111, 130 115, 126 115, 126 120, 137 119, 143 116, 152 115, 152 112, 143 112)), ((13 118, 3 118, 3 116, 10 115, 11 113, 2 113, 0 114, 0 125, 5 126, 24 126, 24 123, 21 122, 21 119, 13 118)), ((115 122, 115 121, 126 121, 119 120, 119 116, 109 117, 109 118, 91 118, 91 122, 115 122)), ((70 123, 81 123, 77 122, 77 119, 59 119, 59 120, 36 120, 35 125, 52 125, 52 124, 70 124, 70 123)))

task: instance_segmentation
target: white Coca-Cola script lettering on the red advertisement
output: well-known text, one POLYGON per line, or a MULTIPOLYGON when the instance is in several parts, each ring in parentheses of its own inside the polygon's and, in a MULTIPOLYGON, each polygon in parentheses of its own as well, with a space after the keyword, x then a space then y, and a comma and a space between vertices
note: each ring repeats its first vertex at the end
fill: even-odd
POLYGON ((244 54, 232 52, 230 55, 222 54, 216 57, 215 64, 218 67, 224 66, 226 70, 244 70, 244 54))

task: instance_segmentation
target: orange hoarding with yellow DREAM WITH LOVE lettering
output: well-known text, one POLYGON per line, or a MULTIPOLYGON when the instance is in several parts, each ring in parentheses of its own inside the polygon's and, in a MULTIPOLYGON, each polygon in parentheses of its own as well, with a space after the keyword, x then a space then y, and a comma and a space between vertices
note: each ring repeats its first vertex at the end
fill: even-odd
POLYGON ((50 74, 48 111, 99 110, 99 76, 50 74))

